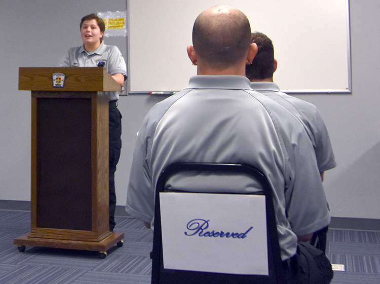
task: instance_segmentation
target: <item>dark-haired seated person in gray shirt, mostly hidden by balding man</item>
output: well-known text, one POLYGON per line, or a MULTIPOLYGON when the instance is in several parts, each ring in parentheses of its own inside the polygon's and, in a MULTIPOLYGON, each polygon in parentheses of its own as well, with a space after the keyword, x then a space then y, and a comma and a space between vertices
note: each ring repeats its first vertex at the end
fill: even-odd
MULTIPOLYGON (((323 181, 324 172, 334 168, 336 162, 321 114, 314 104, 280 92, 279 87, 273 82, 273 74, 276 72, 278 62, 275 59, 271 39, 256 31, 252 33, 252 43, 257 45, 257 54, 245 67, 252 89, 275 100, 300 121, 312 141, 318 170, 323 181)), ((327 230, 328 227, 321 229, 314 234, 312 240, 312 243, 323 252, 326 249, 327 230)))

